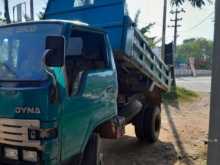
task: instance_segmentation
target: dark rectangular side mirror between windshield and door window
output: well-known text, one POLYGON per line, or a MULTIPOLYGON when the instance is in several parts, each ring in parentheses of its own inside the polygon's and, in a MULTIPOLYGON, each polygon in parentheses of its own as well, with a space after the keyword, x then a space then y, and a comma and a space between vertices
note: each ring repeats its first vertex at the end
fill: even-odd
POLYGON ((61 67, 64 65, 64 37, 48 36, 46 38, 45 65, 48 67, 61 67))

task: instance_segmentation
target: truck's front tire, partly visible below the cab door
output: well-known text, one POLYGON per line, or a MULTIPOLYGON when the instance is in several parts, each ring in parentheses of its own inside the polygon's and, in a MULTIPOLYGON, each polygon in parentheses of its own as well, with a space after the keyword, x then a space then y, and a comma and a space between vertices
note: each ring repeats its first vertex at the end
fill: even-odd
POLYGON ((98 134, 93 134, 85 148, 81 165, 103 165, 100 146, 100 136, 98 134))

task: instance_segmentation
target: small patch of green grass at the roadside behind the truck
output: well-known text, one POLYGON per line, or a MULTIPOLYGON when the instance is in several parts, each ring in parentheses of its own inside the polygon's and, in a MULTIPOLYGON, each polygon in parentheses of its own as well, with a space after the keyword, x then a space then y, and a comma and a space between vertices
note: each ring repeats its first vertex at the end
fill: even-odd
POLYGON ((199 97, 199 94, 181 87, 172 88, 170 92, 163 94, 163 102, 191 102, 199 97))

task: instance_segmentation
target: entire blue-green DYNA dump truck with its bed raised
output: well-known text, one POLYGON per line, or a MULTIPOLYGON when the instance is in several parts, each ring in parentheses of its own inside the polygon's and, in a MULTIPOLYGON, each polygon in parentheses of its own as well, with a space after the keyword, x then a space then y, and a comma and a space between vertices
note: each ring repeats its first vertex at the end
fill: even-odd
POLYGON ((100 165, 100 138, 127 124, 158 140, 170 71, 125 3, 50 0, 44 20, 0 27, 1 165, 100 165))

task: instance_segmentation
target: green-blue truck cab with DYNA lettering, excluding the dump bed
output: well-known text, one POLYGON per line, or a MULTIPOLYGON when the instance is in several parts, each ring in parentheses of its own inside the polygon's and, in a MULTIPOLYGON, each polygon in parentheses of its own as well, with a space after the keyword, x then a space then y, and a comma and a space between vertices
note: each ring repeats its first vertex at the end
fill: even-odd
POLYGON ((106 33, 73 21, 6 25, 0 50, 0 164, 81 160, 97 128, 117 115, 106 33))

